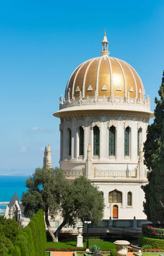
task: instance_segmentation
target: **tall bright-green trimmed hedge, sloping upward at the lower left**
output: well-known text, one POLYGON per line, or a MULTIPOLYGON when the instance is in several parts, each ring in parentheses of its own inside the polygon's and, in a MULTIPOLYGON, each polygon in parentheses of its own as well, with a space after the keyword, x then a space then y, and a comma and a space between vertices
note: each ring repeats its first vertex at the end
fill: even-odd
POLYGON ((46 232, 42 210, 39 210, 9 247, 6 256, 45 256, 46 232))

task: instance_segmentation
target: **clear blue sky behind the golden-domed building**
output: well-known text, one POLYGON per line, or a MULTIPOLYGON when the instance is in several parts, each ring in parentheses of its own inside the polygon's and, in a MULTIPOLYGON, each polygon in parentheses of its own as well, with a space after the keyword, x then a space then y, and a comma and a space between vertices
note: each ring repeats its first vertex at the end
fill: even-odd
POLYGON ((42 166, 50 143, 59 166, 59 96, 74 69, 99 56, 104 28, 110 56, 139 73, 151 98, 164 70, 164 1, 0 2, 0 168, 42 166))

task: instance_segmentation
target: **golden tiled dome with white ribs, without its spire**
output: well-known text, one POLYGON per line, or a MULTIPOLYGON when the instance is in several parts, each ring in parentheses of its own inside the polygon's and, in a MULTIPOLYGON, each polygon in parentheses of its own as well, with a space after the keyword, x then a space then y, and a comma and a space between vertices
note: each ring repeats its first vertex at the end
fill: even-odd
POLYGON ((136 70, 125 61, 118 58, 102 55, 83 62, 74 70, 65 90, 65 99, 68 92, 70 98, 98 97, 116 98, 127 97, 144 100, 144 86, 136 70))

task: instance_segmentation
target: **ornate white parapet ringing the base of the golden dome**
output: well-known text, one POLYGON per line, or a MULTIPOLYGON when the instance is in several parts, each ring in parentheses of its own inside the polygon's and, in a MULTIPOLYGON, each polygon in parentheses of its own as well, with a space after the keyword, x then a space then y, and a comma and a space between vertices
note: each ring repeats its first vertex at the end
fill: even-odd
POLYGON ((150 109, 150 97, 147 96, 147 100, 144 99, 142 100, 141 97, 140 99, 130 99, 129 96, 127 97, 120 97, 116 98, 113 96, 111 97, 98 97, 97 92, 95 92, 94 97, 85 97, 82 98, 82 93, 79 93, 79 98, 73 98, 70 99, 70 93, 68 93, 68 99, 62 101, 62 96, 60 97, 59 100, 59 108, 68 108, 72 106, 81 106, 81 105, 134 105, 134 106, 141 106, 141 107, 146 107, 150 109))

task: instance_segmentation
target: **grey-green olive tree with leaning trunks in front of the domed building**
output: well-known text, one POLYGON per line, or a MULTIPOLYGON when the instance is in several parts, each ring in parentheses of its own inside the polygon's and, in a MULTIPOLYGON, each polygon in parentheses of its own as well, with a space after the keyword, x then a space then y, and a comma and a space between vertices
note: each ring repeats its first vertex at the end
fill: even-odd
POLYGON ((103 217, 105 207, 102 193, 86 177, 70 183, 59 168, 37 168, 26 180, 27 192, 23 193, 24 214, 32 217, 38 209, 45 212, 45 222, 53 241, 58 241, 59 232, 66 224, 75 226, 77 219, 91 215, 93 224, 103 217), (87 196, 86 196, 87 195, 87 196), (55 235, 51 230, 48 215, 54 219, 61 212, 63 222, 55 235))

